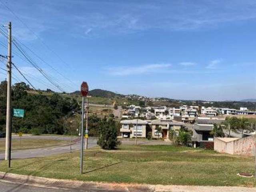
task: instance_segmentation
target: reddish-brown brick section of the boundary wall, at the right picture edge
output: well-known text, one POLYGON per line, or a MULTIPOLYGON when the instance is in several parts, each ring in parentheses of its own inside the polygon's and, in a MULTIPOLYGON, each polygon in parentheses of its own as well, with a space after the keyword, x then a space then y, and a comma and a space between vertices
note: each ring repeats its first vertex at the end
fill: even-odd
POLYGON ((255 142, 256 136, 249 136, 239 140, 234 141, 234 154, 245 155, 245 156, 255 156, 255 142))

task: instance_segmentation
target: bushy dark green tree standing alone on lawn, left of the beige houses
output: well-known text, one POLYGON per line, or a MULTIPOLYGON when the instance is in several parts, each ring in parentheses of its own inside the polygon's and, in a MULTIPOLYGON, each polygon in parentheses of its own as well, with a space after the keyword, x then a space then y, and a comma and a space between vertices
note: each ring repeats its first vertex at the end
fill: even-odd
POLYGON ((112 150, 116 146, 120 145, 121 142, 117 140, 117 128, 115 121, 110 118, 104 118, 100 122, 100 135, 97 142, 102 149, 112 150))

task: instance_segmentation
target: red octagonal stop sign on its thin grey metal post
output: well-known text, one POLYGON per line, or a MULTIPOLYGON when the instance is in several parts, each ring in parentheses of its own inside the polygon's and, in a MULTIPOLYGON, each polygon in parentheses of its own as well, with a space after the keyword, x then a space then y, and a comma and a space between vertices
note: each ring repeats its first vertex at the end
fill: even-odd
POLYGON ((81 84, 81 94, 82 94, 82 115, 81 115, 81 153, 80 153, 80 174, 83 173, 83 153, 84 153, 84 97, 88 94, 88 84, 82 82, 81 84))

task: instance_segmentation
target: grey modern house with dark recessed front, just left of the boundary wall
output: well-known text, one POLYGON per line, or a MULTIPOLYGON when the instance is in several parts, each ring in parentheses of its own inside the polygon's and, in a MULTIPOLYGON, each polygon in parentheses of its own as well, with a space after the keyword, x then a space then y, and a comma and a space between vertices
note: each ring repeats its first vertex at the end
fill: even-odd
POLYGON ((204 142, 213 142, 214 138, 210 132, 213 130, 214 124, 221 124, 224 119, 217 118, 197 118, 192 126, 193 136, 192 143, 194 147, 201 145, 204 142))

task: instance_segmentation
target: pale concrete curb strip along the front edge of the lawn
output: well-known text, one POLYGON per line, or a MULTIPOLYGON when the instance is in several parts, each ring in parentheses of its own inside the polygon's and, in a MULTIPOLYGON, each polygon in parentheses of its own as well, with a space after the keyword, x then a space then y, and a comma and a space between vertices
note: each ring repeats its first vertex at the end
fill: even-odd
POLYGON ((0 181, 54 189, 99 192, 256 192, 256 188, 228 186, 147 185, 106 182, 83 182, 0 172, 0 181))

